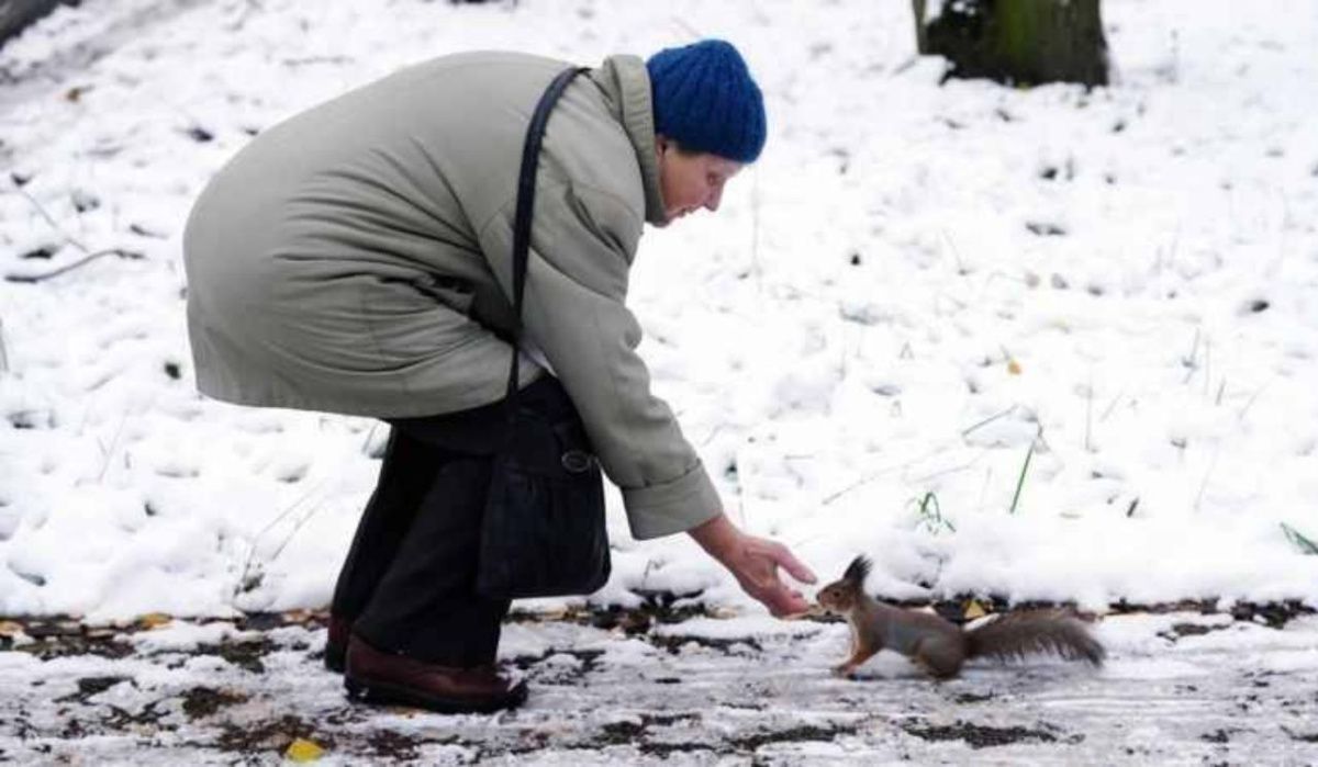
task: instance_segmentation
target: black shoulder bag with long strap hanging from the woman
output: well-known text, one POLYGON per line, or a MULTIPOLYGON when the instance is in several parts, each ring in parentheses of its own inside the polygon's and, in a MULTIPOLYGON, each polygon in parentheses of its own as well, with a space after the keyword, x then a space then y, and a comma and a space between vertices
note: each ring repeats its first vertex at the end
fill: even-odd
POLYGON ((609 580, 604 480, 581 416, 552 377, 525 393, 517 386, 540 140, 555 101, 583 71, 564 70, 550 83, 522 149, 513 223, 513 364, 503 402, 507 428, 492 464, 476 579, 476 590, 492 598, 588 594, 609 580))

